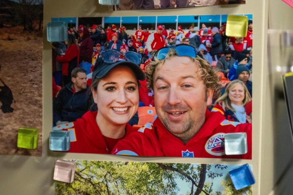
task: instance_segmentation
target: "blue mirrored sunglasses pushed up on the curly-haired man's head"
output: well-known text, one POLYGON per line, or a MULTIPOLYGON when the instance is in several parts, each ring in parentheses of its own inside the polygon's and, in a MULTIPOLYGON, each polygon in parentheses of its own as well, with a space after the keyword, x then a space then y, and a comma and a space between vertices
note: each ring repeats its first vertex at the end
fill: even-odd
POLYGON ((178 56, 189 56, 191 58, 200 56, 201 58, 203 58, 197 48, 188 44, 178 44, 178 45, 170 45, 170 46, 162 47, 155 53, 154 58, 157 58, 158 60, 165 59, 168 54, 168 51, 171 48, 175 49, 176 54, 178 56))

